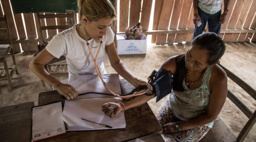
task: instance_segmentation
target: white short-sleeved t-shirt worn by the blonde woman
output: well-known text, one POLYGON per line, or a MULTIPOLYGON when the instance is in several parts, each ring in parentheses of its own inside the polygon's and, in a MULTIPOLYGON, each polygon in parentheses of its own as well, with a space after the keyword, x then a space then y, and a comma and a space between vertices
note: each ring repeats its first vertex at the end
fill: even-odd
MULTIPOLYGON (((68 78, 70 75, 87 75, 97 74, 94 68, 94 61, 87 47, 86 41, 82 39, 74 25, 72 28, 64 30, 55 35, 52 40, 46 46, 46 50, 56 58, 65 56, 68 64, 68 78)), ((107 52, 106 46, 110 45, 114 41, 114 32, 110 27, 107 29, 107 34, 103 38, 103 43, 100 49, 100 53, 97 57, 97 64, 102 74, 106 74, 103 61, 106 59, 107 52)), ((99 45, 95 40, 88 40, 90 48, 99 45)), ((97 48, 91 48, 92 54, 95 58, 99 46, 97 48)))

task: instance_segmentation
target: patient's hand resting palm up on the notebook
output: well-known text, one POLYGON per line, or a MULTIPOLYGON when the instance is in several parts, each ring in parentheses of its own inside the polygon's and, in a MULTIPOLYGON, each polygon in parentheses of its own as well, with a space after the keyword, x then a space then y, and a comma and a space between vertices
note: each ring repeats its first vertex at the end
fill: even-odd
POLYGON ((110 118, 116 117, 123 110, 123 106, 121 104, 114 102, 105 103, 101 107, 101 111, 103 111, 110 118))

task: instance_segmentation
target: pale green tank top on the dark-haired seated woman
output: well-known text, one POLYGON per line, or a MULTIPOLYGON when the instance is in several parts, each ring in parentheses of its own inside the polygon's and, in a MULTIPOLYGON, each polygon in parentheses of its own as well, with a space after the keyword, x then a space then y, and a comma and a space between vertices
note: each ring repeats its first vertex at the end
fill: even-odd
MULTIPOLYGON (((205 113, 210 101, 209 82, 212 75, 212 66, 208 66, 204 72, 204 77, 201 85, 196 89, 189 89, 185 85, 185 80, 182 86, 185 91, 174 91, 170 95, 170 108, 173 114, 180 120, 186 121, 205 113)), ((212 128, 213 121, 205 124, 212 128)))

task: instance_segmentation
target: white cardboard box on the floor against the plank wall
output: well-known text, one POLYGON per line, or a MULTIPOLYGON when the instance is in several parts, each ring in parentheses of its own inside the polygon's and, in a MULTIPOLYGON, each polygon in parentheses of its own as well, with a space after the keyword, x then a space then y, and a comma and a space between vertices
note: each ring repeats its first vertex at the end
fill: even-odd
POLYGON ((147 38, 142 34, 140 40, 126 40, 125 34, 117 34, 117 53, 123 54, 146 54, 147 38))

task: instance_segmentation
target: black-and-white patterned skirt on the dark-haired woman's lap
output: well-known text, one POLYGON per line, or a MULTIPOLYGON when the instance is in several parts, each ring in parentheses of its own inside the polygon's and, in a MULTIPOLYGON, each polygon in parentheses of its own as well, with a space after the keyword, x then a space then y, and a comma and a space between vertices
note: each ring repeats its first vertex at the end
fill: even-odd
MULTIPOLYGON (((180 119, 172 113, 172 109, 169 106, 170 101, 169 98, 167 98, 156 114, 156 118, 162 127, 167 123, 180 121, 180 119)), ((161 135, 165 142, 197 142, 202 139, 209 130, 210 127, 204 125, 172 134, 161 133, 161 135)))

